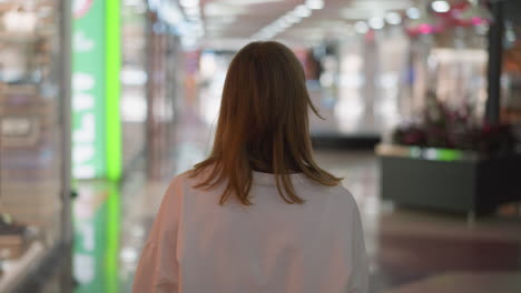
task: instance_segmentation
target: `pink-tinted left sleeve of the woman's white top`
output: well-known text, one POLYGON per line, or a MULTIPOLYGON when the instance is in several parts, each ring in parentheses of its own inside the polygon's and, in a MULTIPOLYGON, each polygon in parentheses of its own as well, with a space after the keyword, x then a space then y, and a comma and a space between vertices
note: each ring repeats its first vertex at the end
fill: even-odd
POLYGON ((177 293, 179 267, 176 257, 179 222, 179 190, 173 182, 159 212, 134 277, 132 293, 177 293))

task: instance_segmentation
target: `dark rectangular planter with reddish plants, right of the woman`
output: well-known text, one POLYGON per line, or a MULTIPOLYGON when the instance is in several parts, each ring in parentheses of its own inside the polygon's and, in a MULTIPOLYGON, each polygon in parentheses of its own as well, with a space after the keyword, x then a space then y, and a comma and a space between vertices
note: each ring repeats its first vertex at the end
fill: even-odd
POLYGON ((521 155, 510 125, 480 123, 427 97, 421 120, 397 127, 376 148, 382 198, 411 208, 490 213, 521 200, 521 155))

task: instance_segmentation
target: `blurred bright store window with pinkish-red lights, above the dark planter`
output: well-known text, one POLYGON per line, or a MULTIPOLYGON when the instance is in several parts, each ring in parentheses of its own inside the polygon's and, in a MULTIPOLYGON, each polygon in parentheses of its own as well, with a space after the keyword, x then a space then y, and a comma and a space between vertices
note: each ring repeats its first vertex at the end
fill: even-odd
POLYGON ((406 112, 412 119, 421 115, 431 95, 451 108, 470 108, 479 121, 484 117, 489 20, 464 22, 458 12, 464 9, 462 2, 448 12, 423 11, 405 24, 411 57, 403 90, 410 94, 406 112))

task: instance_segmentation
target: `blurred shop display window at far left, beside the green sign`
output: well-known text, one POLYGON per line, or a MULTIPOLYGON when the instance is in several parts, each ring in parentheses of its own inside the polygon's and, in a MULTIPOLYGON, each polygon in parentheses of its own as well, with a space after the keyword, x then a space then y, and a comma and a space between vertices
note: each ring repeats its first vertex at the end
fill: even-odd
POLYGON ((0 3, 0 292, 23 283, 70 222, 62 4, 0 3))

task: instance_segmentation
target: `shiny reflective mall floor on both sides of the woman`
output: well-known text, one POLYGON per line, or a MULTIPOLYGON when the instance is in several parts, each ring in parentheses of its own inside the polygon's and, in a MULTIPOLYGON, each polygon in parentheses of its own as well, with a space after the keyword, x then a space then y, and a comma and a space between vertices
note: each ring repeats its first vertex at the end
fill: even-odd
MULTIPOLYGON (((130 292, 147 232, 169 179, 208 151, 209 131, 189 113, 179 119, 164 176, 146 164, 120 185, 82 182, 75 203, 76 292, 130 292)), ((323 168, 345 178, 365 228, 371 292, 521 292, 521 216, 505 206, 471 223, 464 215, 396 209, 379 199, 379 164, 368 151, 317 150, 323 168)), ((326 243, 324 243, 326 245, 326 243)))

